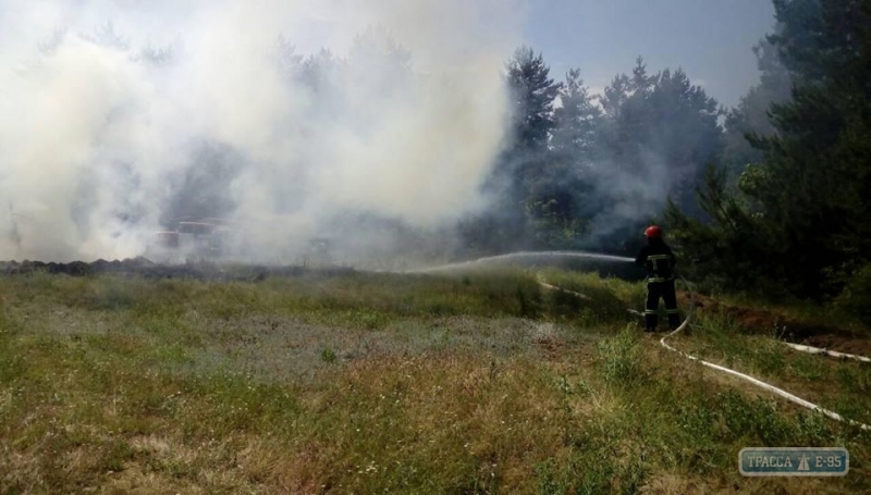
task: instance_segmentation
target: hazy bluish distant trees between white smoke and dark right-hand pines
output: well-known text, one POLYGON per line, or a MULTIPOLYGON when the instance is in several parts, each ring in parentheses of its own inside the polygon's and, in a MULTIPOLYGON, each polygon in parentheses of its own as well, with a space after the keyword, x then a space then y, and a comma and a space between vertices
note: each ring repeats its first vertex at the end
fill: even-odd
POLYGON ((520 47, 506 63, 508 143, 484 186, 493 207, 461 224, 486 251, 634 250, 671 195, 694 218, 692 187, 724 149, 724 111, 682 70, 636 60, 603 95, 578 70, 551 77, 543 54, 520 47))

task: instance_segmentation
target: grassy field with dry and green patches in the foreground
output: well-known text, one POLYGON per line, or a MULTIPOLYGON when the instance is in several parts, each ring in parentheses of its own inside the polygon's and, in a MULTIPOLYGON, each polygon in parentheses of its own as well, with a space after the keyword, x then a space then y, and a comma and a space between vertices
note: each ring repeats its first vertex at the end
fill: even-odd
MULTIPOLYGON (((555 270, 2 277, 0 493, 871 491, 871 433, 663 349, 642 296, 555 270), (747 446, 850 471, 744 478, 747 446)), ((722 314, 674 344, 871 423, 868 364, 722 314)))

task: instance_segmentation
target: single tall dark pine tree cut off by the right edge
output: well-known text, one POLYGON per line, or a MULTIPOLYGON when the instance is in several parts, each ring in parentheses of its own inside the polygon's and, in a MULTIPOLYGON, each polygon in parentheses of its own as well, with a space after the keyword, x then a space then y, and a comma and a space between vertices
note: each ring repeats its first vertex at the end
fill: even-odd
POLYGON ((777 0, 770 37, 795 75, 774 106, 778 133, 758 137, 764 175, 750 190, 784 243, 801 295, 837 290, 869 262, 871 2, 777 0))

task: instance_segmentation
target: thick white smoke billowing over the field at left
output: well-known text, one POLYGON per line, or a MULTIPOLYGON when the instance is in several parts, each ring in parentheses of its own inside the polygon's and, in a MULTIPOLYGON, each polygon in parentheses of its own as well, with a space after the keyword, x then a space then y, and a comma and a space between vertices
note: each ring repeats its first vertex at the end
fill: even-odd
POLYGON ((184 202, 185 177, 216 173, 195 170, 203 149, 232 170, 217 193, 228 210, 214 214, 241 222, 261 258, 291 256, 347 211, 419 227, 455 220, 480 206, 502 145, 517 11, 495 0, 5 0, 0 259, 143 253, 184 202), (322 47, 342 66, 318 72, 329 97, 300 72, 299 57, 322 47), (407 63, 391 62, 403 50, 407 63))

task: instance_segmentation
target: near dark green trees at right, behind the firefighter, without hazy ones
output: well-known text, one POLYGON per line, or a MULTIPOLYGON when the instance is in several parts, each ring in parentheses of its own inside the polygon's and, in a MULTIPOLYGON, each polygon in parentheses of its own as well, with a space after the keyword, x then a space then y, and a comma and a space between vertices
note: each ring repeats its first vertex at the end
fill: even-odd
POLYGON ((726 120, 735 154, 697 188, 706 221, 674 200, 663 218, 697 276, 871 322, 871 1, 774 7, 761 81, 726 120))

